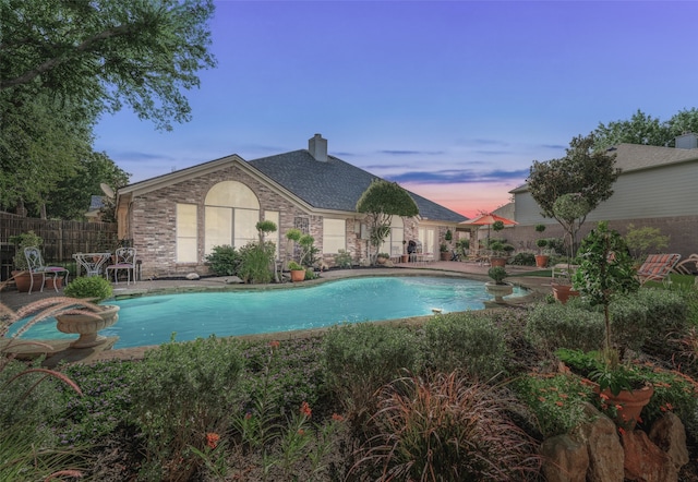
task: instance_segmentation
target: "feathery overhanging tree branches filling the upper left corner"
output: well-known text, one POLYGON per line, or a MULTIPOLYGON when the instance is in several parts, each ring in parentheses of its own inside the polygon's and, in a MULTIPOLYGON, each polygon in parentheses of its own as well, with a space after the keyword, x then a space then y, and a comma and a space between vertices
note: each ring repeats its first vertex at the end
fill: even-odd
POLYGON ((182 89, 212 68, 213 0, 3 0, 0 92, 49 92, 116 111, 123 101, 170 129, 190 119, 182 89))

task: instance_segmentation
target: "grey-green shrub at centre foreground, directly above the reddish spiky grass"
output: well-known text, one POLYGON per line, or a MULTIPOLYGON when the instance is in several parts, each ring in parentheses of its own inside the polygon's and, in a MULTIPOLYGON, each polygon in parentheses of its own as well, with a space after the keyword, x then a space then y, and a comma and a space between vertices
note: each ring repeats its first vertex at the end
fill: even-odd
POLYGON ((354 323, 330 328, 324 338, 328 389, 362 419, 375 407, 375 391, 418 364, 416 336, 405 327, 354 323))

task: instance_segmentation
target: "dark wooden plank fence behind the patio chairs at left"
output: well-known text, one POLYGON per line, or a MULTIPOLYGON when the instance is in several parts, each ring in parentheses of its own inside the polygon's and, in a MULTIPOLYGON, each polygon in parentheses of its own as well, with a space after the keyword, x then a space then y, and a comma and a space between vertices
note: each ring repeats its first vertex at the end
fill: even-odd
POLYGON ((13 269, 15 246, 10 239, 27 231, 44 239, 41 253, 47 263, 71 262, 80 252, 113 252, 119 245, 115 222, 33 219, 0 213, 0 280, 8 279, 13 269))

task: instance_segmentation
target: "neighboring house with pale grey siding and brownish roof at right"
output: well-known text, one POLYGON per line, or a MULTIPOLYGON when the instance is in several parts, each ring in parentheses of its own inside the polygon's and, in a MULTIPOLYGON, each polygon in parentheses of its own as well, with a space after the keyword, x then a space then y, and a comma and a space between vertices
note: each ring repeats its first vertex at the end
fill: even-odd
MULTIPOLYGON (((589 213, 580 236, 600 220, 626 232, 629 224, 659 228, 670 236, 666 252, 688 256, 698 252, 698 135, 676 138, 676 147, 619 144, 609 149, 616 154, 615 166, 622 169, 613 184, 613 195, 589 213)), ((545 237, 562 237, 554 219, 544 218, 540 207, 521 185, 513 191, 515 219, 512 240, 518 248, 530 248, 533 226, 549 226, 545 237)))

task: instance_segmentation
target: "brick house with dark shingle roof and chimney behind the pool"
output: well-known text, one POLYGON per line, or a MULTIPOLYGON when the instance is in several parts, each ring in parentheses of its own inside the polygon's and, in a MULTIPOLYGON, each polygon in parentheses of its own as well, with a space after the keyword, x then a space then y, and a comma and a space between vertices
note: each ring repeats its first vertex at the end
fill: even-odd
MULTIPOLYGON (((280 260, 288 257, 286 232, 298 228, 314 237, 329 266, 340 250, 360 263, 368 257, 368 231, 356 205, 376 178, 328 155, 327 141, 315 134, 308 149, 251 161, 231 155, 120 189, 119 239, 132 240, 144 277, 206 273, 214 246, 256 240, 261 219, 278 228, 266 240, 276 243, 280 260)), ((416 239, 437 253, 446 230, 466 218, 410 195, 420 214, 394 216, 381 251, 402 254, 404 241, 416 239)))

